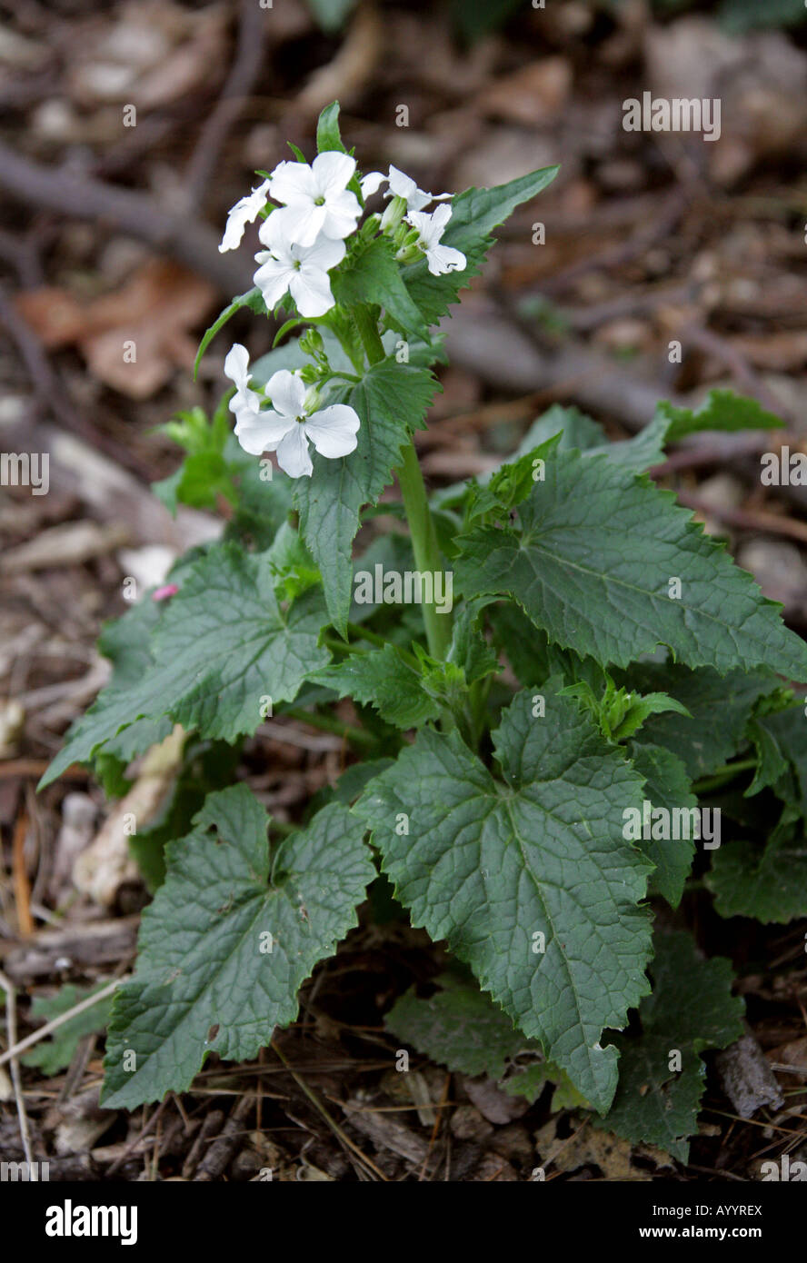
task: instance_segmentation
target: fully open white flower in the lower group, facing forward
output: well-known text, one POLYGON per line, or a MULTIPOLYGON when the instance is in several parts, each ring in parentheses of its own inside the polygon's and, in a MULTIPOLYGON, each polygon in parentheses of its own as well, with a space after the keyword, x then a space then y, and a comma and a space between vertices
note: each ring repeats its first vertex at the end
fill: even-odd
MULTIPOLYGON (((266 383, 272 408, 249 423, 239 422, 236 436, 241 447, 253 456, 278 453, 278 465, 289 477, 311 477, 313 465, 308 440, 321 456, 335 460, 355 451, 356 431, 361 422, 347 404, 311 410, 312 395, 298 373, 280 369, 266 383)), ((316 409, 316 394, 313 394, 316 409)))

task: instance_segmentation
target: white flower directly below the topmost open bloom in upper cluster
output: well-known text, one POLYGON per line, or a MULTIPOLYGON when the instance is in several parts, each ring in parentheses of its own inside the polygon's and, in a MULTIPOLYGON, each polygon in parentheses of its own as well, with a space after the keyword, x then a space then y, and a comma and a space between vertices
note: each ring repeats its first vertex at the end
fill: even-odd
POLYGON ((255 255, 256 263, 260 264, 255 273, 255 284, 264 296, 269 311, 279 303, 288 289, 301 316, 307 320, 325 316, 335 301, 328 272, 345 258, 345 242, 320 237, 313 245, 304 246, 289 241, 288 225, 280 217, 282 213, 273 211, 260 225, 258 235, 269 249, 260 250, 255 255))

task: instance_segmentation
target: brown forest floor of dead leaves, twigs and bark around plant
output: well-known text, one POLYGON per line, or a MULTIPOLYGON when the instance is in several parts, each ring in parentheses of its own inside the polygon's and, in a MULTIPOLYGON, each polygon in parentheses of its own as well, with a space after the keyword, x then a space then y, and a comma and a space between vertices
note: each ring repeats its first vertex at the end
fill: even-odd
MULTIPOLYGON (((0 24, 0 446, 51 452, 47 495, 0 493, 0 970, 23 1038, 64 984, 77 997, 131 967, 141 883, 125 868, 93 899, 72 877, 116 808, 81 768, 39 797, 34 787, 104 682, 95 642, 126 609, 126 576, 153 582, 218 529, 201 513, 172 520, 152 498, 149 482, 177 464, 154 427, 215 405, 230 341, 269 349, 270 330, 237 317, 192 380, 201 332, 249 285, 249 251, 216 249, 226 211, 287 138, 311 152, 330 100, 365 171, 392 160, 423 188, 561 164, 448 327, 443 394, 418 434, 429 482, 493 467, 556 402, 619 438, 658 399, 729 385, 787 431, 764 446, 712 437, 654 476, 807 634, 807 489, 759 479, 770 445, 807 451, 807 32, 727 35, 705 11, 662 21, 643 3, 595 0, 527 6, 499 29, 466 29, 471 42, 456 13, 467 28, 472 5, 362 4, 330 35, 303 0, 13 8, 14 29, 8 14, 0 24), (720 96, 720 144, 625 131, 621 102, 647 86, 720 96), (138 357, 124 364, 129 338, 138 357)), ((349 758, 338 738, 278 719, 248 743, 240 775, 293 822, 349 758)), ((398 1075, 384 1013, 443 960, 394 909, 375 913, 362 909, 304 988, 299 1021, 256 1062, 212 1056, 191 1091, 158 1106, 99 1108, 92 1029, 67 1051, 37 1045, 23 1099, 51 1178, 515 1181, 543 1167, 547 1180, 745 1181, 767 1156, 807 1152, 801 922, 720 921, 697 885, 676 913, 731 959, 784 1096, 741 1118, 710 1063, 683 1167, 583 1114, 552 1113, 551 1090, 528 1105, 417 1057, 398 1075)), ((8 1068, 0 1156, 13 1161, 23 1147, 8 1068)))

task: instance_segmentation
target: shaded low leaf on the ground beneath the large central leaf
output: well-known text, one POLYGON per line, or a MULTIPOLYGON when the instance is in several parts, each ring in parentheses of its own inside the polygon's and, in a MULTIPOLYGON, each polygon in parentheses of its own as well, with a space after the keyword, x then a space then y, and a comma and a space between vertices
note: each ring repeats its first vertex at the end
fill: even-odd
POLYGON ((442 990, 431 999, 419 999, 412 988, 395 1000, 384 1026, 397 1038, 448 1070, 504 1080, 504 1091, 530 1101, 547 1081, 566 1080, 562 1070, 544 1060, 541 1045, 518 1031, 474 979, 443 974, 434 981, 442 990), (528 1065, 517 1063, 523 1055, 530 1057, 528 1065))

